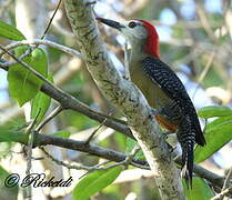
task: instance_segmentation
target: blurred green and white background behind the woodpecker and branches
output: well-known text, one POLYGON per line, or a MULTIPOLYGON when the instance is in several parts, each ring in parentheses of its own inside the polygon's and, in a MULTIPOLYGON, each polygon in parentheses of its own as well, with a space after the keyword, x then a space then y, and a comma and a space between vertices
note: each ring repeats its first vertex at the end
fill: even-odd
MULTIPOLYGON (((24 23, 29 21, 28 23, 30 23, 30 20, 34 20, 34 26, 39 30, 33 29, 33 37, 31 38, 39 38, 41 32, 44 31, 44 27, 58 1, 41 0, 40 7, 37 7, 36 3, 33 4, 33 2, 28 3, 27 0, 23 4, 22 1, 0 0, 0 19, 18 27, 19 30, 23 29, 23 33, 31 31, 28 29, 30 26, 23 27, 19 21, 22 20, 24 23), (28 8, 19 7, 21 3, 28 8), (32 8, 34 12, 42 12, 43 14, 37 13, 36 18, 29 14, 28 19, 23 19, 24 14, 17 16, 16 13, 17 11, 22 13, 23 9, 32 8), (38 11, 38 9, 41 10, 38 11)), ((94 11, 97 16, 118 21, 138 18, 152 22, 160 36, 162 60, 169 63, 181 78, 196 109, 211 104, 231 108, 232 4, 230 0, 99 0, 94 4, 94 11)), ((33 26, 30 28, 32 29, 33 26)), ((123 70, 122 44, 124 39, 112 29, 102 26, 99 26, 99 28, 109 51, 117 56, 112 54, 113 62, 119 70, 123 70)), ((24 36, 27 36, 26 33, 24 36)), ((27 38, 30 37, 27 36, 27 38)), ((62 4, 46 38, 47 40, 79 49, 71 33, 62 4)), ((10 40, 0 38, 0 43, 8 44, 10 40)), ((43 48, 49 59, 49 71, 53 74, 57 86, 94 110, 121 117, 121 113, 118 113, 99 91, 83 61, 53 48, 43 48)), ((56 102, 53 102, 51 108, 54 106, 56 102)), ((19 108, 14 100, 9 97, 7 72, 0 70, 0 124, 20 129, 27 123, 26 112, 24 108, 19 108)), ((70 138, 84 140, 98 126, 98 122, 83 114, 65 110, 56 118, 52 124, 48 124, 43 131, 48 133, 56 130, 69 130, 71 132, 70 138)), ((203 126, 204 121, 202 121, 203 126)), ((127 150, 127 138, 105 127, 98 131, 93 142, 121 152, 127 150)), ((9 153, 12 149, 12 144, 0 143, 1 166, 9 173, 24 164, 21 163, 21 160, 24 159, 23 153, 16 153, 22 152, 22 148, 16 146, 13 149, 14 153, 9 153)), ((229 143, 201 164, 222 176, 232 166, 232 160, 228 159, 231 158, 231 143, 229 143)), ((101 162, 99 158, 74 151, 62 150, 60 154, 54 153, 54 157, 67 160, 70 163, 79 162, 87 166, 101 162)), ((56 166, 56 163, 52 164, 56 166)), ((41 166, 46 170, 52 169, 52 167, 48 167, 46 163, 41 166)), ((3 169, 0 170, 2 171, 3 169)), ((133 168, 128 170, 133 170, 133 168)), ((63 174, 68 173, 75 177, 75 181, 84 173, 77 170, 68 171, 62 169, 61 171, 63 174)), ((120 183, 105 188, 102 192, 92 197, 92 199, 158 199, 158 192, 151 176, 142 172, 140 177, 131 177, 130 174, 130 172, 128 174, 123 173, 124 177, 122 176, 118 181, 121 181, 120 183)), ((58 192, 58 194, 47 191, 44 193, 42 197, 44 199, 46 196, 50 196, 53 199, 58 197, 60 199, 67 198, 65 192, 58 192)), ((0 199, 6 199, 3 196, 6 197, 6 193, 0 193, 0 199)), ((9 197, 12 197, 12 191, 10 191, 9 197)), ((71 198, 70 196, 68 197, 71 198)), ((12 199, 16 199, 16 197, 12 197, 12 199)))

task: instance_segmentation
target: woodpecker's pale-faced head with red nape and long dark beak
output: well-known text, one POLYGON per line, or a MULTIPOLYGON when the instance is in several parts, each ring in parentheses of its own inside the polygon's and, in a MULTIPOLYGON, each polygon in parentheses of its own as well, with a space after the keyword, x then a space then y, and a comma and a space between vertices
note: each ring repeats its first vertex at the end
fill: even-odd
POLYGON ((127 40, 133 46, 138 41, 144 41, 144 52, 154 57, 160 57, 159 36, 155 28, 145 20, 129 20, 117 22, 109 19, 97 18, 98 21, 119 30, 127 40))

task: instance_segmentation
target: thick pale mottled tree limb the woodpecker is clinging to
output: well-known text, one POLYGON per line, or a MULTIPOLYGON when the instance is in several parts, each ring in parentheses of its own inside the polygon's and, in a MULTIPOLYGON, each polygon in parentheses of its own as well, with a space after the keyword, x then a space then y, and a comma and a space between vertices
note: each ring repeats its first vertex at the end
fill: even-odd
POLYGON ((150 107, 130 81, 124 80, 108 57, 92 12, 85 0, 64 0, 67 16, 90 73, 111 103, 124 113, 155 174, 162 199, 184 199, 180 174, 164 137, 151 117, 150 107))

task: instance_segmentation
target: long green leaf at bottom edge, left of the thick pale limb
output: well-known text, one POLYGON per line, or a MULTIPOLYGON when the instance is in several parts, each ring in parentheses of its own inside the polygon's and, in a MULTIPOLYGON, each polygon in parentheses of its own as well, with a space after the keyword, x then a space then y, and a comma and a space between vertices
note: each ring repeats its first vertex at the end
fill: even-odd
POLYGON ((123 168, 118 166, 107 170, 94 171, 84 177, 73 189, 74 200, 87 200, 89 197, 111 184, 123 168))

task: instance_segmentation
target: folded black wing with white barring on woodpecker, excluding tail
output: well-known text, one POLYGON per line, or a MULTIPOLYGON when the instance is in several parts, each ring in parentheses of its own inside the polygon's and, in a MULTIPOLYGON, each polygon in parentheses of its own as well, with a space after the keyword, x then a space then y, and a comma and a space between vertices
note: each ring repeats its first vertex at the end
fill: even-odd
POLYGON ((148 77, 157 83, 170 99, 179 104, 183 113, 190 116, 192 127, 195 131, 195 142, 200 146, 204 146, 205 140, 194 106, 178 76, 160 59, 147 57, 141 63, 148 77))

